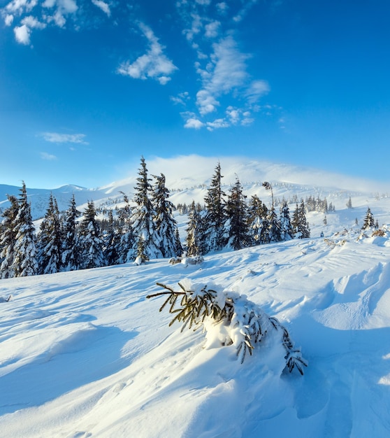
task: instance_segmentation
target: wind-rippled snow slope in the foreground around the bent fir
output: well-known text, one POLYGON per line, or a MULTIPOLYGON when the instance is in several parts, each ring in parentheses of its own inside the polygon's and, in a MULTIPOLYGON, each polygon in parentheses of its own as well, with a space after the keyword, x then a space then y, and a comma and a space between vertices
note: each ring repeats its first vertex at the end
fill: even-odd
POLYGON ((145 265, 1 281, 1 437, 390 436, 390 240, 356 234, 145 265), (214 282, 287 327, 308 360, 266 341, 168 327, 157 281, 214 282))

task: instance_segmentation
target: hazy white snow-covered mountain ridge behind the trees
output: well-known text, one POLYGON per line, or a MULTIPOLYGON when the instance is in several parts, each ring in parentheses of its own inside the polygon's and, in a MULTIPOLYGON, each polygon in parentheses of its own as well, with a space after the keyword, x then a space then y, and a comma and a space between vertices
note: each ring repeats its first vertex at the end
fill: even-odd
MULTIPOLYGON (((238 177, 245 195, 250 197, 256 194, 264 201, 269 199, 270 194, 262 187, 263 181, 269 181, 273 185, 275 198, 291 199, 294 195, 298 199, 302 197, 305 199, 310 195, 327 197, 328 202, 333 202, 336 208, 343 208, 349 196, 354 197, 359 205, 363 200, 367 200, 366 204, 369 204, 371 199, 390 196, 390 187, 373 181, 331 174, 318 169, 250 160, 245 157, 218 158, 198 155, 171 159, 157 157, 147 162, 147 169, 150 178, 152 175, 161 173, 166 176, 166 186, 171 190, 173 204, 189 204, 192 200, 203 204, 206 190, 218 162, 221 164, 224 176, 222 183, 226 193, 238 177)), ((64 185, 53 190, 36 189, 29 188, 27 181, 31 212, 34 219, 44 216, 50 192, 56 197, 60 210, 68 207, 73 194, 80 209, 84 208, 87 201, 94 201, 96 206, 110 207, 120 202, 121 192, 126 193, 131 199, 137 177, 138 169, 135 167, 129 171, 127 178, 91 189, 81 188, 78 185, 64 185)), ((19 189, 15 186, 0 185, 0 209, 8 205, 6 195, 18 195, 19 189)))

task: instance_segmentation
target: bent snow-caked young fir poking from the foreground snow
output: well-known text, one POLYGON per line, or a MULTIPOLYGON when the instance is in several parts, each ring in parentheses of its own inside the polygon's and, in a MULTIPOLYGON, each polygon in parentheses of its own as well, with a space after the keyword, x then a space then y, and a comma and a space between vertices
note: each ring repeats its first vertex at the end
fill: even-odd
MULTIPOLYGON (((294 368, 303 374, 303 367, 308 363, 302 358, 301 350, 294 348, 294 343, 289 337, 287 329, 273 317, 268 316, 263 310, 236 292, 222 290, 215 285, 183 285, 179 291, 167 285, 157 283, 164 288, 164 292, 147 295, 147 298, 166 295, 166 300, 160 307, 162 311, 168 306, 169 313, 174 315, 171 323, 176 321, 185 327, 197 330, 203 326, 208 332, 217 332, 219 346, 233 345, 241 363, 247 353, 252 355, 255 346, 267 334, 273 333, 279 339, 285 350, 284 360, 286 368, 292 372, 294 368)), ((275 338, 274 338, 275 339, 275 338)))

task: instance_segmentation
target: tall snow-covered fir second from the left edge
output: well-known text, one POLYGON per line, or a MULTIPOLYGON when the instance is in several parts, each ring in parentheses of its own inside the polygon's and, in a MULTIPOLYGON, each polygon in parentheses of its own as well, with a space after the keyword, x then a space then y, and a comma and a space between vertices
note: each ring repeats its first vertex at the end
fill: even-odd
POLYGON ((19 209, 15 218, 15 246, 11 269, 16 277, 38 274, 36 260, 35 227, 31 218, 31 206, 27 201, 27 190, 24 181, 18 199, 19 209))

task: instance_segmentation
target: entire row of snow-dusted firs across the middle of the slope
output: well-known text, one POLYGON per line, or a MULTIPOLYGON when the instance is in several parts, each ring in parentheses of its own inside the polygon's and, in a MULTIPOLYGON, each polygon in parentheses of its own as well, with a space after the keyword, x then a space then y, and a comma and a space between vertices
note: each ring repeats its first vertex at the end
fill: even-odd
POLYGON ((3 211, 0 225, 0 278, 52 274, 103 267, 126 262, 142 263, 150 258, 205 255, 223 248, 237 250, 247 246, 310 237, 305 218, 305 203, 296 204, 290 219, 283 202, 279 213, 268 209, 254 195, 248 201, 238 178, 228 195, 222 190, 218 164, 204 206, 192 203, 187 209, 187 236, 180 243, 175 207, 168 200, 165 176, 149 178, 145 160, 129 198, 122 192, 121 208, 105 209, 98 218, 94 202, 83 214, 72 197, 68 209, 59 212, 50 195, 48 209, 38 230, 31 218, 31 206, 23 183, 20 196, 8 195, 10 206, 3 211), (153 183, 151 183, 153 181, 153 183))

